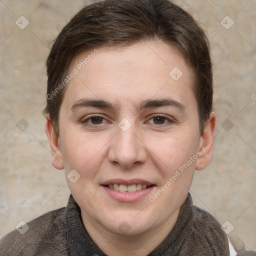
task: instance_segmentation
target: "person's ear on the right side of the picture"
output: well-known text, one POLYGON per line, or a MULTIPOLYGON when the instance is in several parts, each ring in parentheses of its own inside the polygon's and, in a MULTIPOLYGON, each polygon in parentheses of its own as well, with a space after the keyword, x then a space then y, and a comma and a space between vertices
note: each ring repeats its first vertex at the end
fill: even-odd
POLYGON ((200 151, 201 154, 196 160, 196 170, 201 170, 205 168, 211 160, 215 126, 216 114, 214 112, 211 112, 209 119, 204 124, 203 133, 200 137, 198 150, 200 151))

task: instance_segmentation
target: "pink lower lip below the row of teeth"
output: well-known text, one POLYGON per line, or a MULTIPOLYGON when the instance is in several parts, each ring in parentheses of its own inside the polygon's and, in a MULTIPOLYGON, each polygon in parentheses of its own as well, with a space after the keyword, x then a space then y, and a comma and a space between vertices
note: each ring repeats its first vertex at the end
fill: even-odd
POLYGON ((150 192, 152 192, 155 186, 150 186, 148 188, 141 189, 135 192, 120 192, 103 185, 101 185, 101 187, 107 192, 110 197, 116 199, 117 201, 134 202, 147 196, 150 192))

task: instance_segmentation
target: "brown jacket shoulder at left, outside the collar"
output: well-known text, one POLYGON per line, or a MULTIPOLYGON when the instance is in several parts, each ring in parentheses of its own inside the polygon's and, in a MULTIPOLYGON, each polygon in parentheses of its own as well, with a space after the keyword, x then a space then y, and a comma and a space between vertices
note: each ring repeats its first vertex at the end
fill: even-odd
POLYGON ((58 249, 56 244, 65 246, 65 207, 49 211, 26 225, 17 228, 20 231, 14 229, 0 239, 1 255, 29 256, 40 254, 42 250, 47 250, 43 252, 45 255, 55 255, 51 250, 58 249), (28 229, 23 232, 22 228, 28 229))

